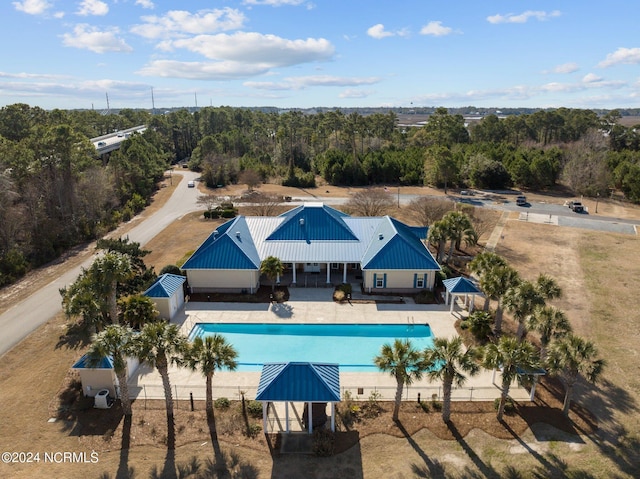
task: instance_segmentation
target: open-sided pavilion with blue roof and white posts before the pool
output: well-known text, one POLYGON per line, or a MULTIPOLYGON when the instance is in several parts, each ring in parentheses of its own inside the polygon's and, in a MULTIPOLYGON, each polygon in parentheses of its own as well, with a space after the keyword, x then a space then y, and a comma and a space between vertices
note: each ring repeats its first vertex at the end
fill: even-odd
MULTIPOLYGON (((326 404, 331 404, 331 430, 335 431, 335 404, 340 402, 340 374, 337 364, 266 363, 262 367, 256 401, 262 402, 263 430, 267 431, 269 404, 285 403, 285 429, 289 428, 289 405, 303 402, 303 423, 309 434, 314 422, 326 421, 326 404)), ((320 425, 322 425, 320 424, 320 425)))

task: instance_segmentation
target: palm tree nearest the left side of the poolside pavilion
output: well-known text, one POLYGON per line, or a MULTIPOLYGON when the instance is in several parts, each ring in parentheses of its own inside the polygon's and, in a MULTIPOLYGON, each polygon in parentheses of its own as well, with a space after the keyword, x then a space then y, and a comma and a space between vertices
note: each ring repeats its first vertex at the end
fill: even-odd
POLYGON ((219 334, 205 336, 204 340, 198 336, 188 349, 186 354, 187 364, 194 371, 200 370, 206 378, 207 398, 205 409, 209 419, 213 418, 213 375, 223 368, 231 371, 235 370, 238 366, 237 357, 237 351, 219 334))

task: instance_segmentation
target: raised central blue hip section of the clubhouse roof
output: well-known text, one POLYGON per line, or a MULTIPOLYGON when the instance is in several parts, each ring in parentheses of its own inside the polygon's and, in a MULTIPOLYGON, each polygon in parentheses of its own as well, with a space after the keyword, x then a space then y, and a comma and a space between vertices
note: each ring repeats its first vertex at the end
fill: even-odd
POLYGON ((358 241, 342 218, 348 216, 322 203, 311 203, 287 211, 286 220, 267 241, 358 241))

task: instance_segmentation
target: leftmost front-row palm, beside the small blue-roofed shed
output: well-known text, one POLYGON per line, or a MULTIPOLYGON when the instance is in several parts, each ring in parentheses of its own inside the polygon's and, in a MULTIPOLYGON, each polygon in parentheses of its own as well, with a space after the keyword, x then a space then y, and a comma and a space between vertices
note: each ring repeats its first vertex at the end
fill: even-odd
POLYGON ((131 354, 133 330, 127 326, 112 324, 93 337, 87 353, 89 366, 96 366, 104 357, 113 361, 113 371, 120 385, 120 401, 125 416, 131 416, 131 399, 127 384, 127 358, 131 354))

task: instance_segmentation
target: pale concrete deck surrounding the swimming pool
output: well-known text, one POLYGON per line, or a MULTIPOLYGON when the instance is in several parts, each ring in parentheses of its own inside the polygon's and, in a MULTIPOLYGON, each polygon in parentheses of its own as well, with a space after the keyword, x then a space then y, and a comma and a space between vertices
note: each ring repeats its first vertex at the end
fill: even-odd
MULTIPOLYGON (((330 289, 291 289, 286 303, 207 303, 190 302, 176 315, 173 323, 179 324, 186 336, 196 323, 308 323, 308 324, 348 324, 348 323, 428 323, 436 337, 456 336, 454 323, 466 311, 459 309, 452 315, 449 306, 415 304, 408 298, 404 303, 336 303, 331 300, 330 289)), ((385 298, 389 299, 389 298, 385 298)), ((400 298, 397 298, 400 299, 400 298)), ((172 367, 169 371, 174 386, 174 396, 184 400, 192 393, 195 399, 204 398, 204 378, 198 372, 186 368, 172 367)), ((255 397, 260 379, 259 372, 217 372, 213 378, 215 397, 239 399, 241 391, 248 399, 255 397)), ((483 370, 469 378, 461 389, 454 390, 453 400, 493 400, 500 394, 500 373, 483 370)), ((138 398, 163 398, 162 381, 157 371, 141 365, 129 380, 132 394, 138 398)), ((384 400, 392 400, 396 382, 384 373, 341 373, 340 386, 351 392, 352 397, 366 400, 373 391, 384 400)), ((440 394, 440 384, 423 379, 405 388, 405 398, 414 400, 421 393, 423 399, 431 399, 440 394)), ((526 401, 529 391, 513 384, 510 396, 514 400, 526 401)))

